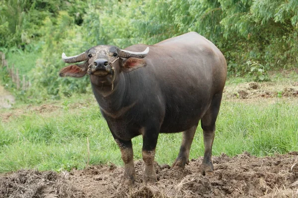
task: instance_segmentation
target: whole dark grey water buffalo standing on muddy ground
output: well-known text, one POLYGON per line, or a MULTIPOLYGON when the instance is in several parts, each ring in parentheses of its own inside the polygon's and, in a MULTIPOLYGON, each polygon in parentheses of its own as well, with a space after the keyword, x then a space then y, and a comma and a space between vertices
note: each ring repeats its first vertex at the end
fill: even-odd
POLYGON ((143 136, 144 182, 157 181, 153 162, 159 133, 183 131, 173 169, 184 168, 199 121, 204 133, 202 174, 213 173, 215 122, 226 80, 222 52, 203 36, 190 32, 155 45, 127 49, 95 46, 62 58, 60 76, 90 75, 94 96, 121 150, 124 182, 136 179, 131 139, 143 136), (135 52, 139 51, 139 52, 135 52))

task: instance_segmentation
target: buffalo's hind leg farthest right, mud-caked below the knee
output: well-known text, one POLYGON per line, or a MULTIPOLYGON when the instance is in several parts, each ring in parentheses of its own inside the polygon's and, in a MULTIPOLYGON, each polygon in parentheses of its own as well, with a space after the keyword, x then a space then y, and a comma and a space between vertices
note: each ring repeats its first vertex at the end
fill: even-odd
POLYGON ((215 122, 220 110, 223 93, 214 95, 210 107, 201 120, 203 135, 204 135, 204 158, 202 162, 202 174, 212 175, 213 174, 213 163, 212 163, 212 145, 215 136, 215 122))

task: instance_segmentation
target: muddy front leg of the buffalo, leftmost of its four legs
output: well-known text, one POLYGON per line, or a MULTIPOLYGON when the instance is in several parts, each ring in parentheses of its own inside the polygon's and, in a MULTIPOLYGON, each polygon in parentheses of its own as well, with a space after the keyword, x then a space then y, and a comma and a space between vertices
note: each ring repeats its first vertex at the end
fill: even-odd
POLYGON ((121 150, 121 158, 124 162, 124 184, 133 185, 136 181, 136 171, 132 141, 123 141, 116 138, 115 141, 121 150))

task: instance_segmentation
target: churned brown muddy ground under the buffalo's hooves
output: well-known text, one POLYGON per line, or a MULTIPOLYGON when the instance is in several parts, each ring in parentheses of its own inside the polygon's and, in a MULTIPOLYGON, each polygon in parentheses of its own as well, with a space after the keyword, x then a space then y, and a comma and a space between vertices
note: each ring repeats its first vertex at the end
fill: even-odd
POLYGON ((135 186, 122 185, 123 168, 91 166, 58 175, 21 170, 0 178, 0 197, 217 198, 298 197, 298 152, 258 158, 249 153, 214 157, 214 176, 200 174, 202 157, 184 170, 155 164, 158 182, 143 185, 144 164, 136 162, 135 186), (52 197, 51 197, 52 196, 52 197))

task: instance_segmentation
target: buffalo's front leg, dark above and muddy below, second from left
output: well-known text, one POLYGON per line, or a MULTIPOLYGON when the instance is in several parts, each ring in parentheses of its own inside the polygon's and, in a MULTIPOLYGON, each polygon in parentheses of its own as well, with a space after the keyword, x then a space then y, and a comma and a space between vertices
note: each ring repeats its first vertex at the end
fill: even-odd
POLYGON ((143 135, 143 160, 145 163, 144 183, 154 184, 157 182, 154 169, 155 148, 157 144, 158 132, 156 130, 147 130, 143 135))

